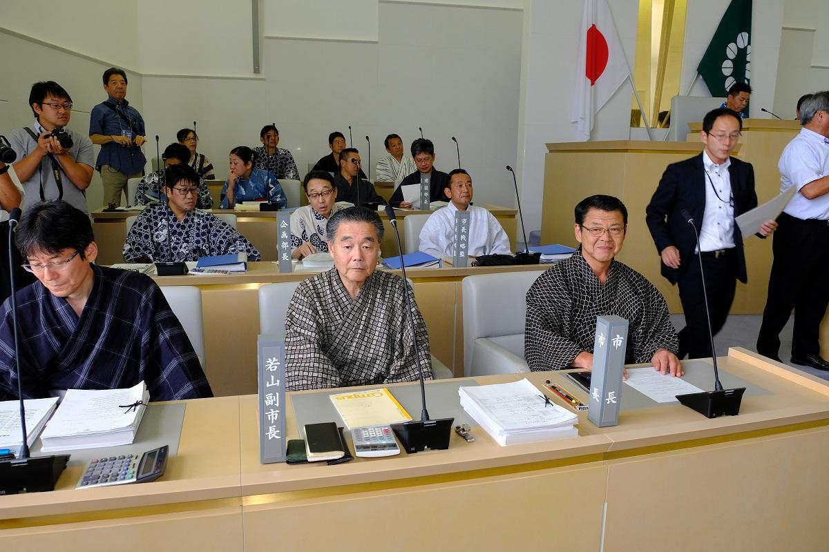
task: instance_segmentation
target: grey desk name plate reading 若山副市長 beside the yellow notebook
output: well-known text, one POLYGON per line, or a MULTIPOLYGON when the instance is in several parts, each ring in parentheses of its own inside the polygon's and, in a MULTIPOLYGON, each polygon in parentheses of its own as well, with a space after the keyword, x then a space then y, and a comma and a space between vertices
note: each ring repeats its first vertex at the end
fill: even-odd
POLYGON ((285 461, 284 336, 259 334, 259 462, 285 461))

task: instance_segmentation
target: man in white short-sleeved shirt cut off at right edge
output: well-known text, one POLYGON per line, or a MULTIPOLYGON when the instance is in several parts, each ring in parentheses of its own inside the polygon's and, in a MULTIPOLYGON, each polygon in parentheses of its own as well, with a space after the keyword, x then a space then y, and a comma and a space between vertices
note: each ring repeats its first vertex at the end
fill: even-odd
POLYGON ((780 331, 794 309, 792 363, 829 370, 820 325, 829 305, 829 91, 800 106, 800 133, 780 156, 780 189, 797 188, 778 221, 768 300, 757 352, 778 359, 780 331))

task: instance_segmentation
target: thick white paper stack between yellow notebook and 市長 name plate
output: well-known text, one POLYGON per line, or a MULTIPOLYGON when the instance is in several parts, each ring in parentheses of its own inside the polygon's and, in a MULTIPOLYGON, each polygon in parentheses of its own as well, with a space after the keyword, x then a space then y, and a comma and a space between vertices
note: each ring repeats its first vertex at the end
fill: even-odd
POLYGON ((461 406, 498 444, 575 437, 579 416, 552 402, 529 381, 458 388, 461 406))

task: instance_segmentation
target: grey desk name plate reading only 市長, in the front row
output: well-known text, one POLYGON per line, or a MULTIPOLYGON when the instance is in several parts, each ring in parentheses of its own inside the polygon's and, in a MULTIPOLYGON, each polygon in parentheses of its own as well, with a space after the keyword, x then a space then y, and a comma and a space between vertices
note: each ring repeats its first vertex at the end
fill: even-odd
POLYGON ((598 427, 619 423, 622 374, 627 350, 628 320, 620 316, 597 317, 587 419, 598 427))

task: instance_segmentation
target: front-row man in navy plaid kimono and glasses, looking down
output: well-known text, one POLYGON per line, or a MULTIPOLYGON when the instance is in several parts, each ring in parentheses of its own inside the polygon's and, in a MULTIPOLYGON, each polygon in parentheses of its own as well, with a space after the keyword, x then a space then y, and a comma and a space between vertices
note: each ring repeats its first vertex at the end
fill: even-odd
POLYGON ((0 401, 17 398, 18 357, 24 398, 142 380, 151 401, 213 395, 158 286, 138 272, 94 264, 98 246, 86 214, 61 200, 33 205, 16 240, 37 281, 16 294, 19 348, 11 298, 0 307, 0 401))

